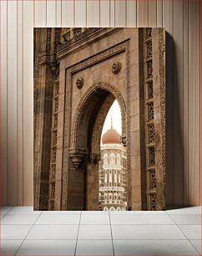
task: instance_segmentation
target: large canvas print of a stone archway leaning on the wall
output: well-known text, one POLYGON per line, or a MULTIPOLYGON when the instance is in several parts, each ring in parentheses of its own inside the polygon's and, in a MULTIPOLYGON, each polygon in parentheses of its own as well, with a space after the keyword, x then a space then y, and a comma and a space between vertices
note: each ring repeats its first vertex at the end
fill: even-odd
POLYGON ((164 210, 164 28, 33 39, 34 210, 164 210))

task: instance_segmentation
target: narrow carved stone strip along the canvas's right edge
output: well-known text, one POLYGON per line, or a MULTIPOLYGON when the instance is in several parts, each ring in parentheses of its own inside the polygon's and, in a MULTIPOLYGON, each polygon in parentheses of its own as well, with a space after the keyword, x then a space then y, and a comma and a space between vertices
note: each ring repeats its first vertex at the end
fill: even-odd
POLYGON ((157 210, 165 209, 165 30, 152 29, 157 210))

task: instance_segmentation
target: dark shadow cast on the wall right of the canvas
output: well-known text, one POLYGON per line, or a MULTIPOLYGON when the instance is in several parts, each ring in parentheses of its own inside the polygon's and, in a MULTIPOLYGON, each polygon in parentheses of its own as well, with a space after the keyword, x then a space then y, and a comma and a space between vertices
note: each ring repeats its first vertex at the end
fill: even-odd
MULTIPOLYGON (((180 115, 180 98, 183 94, 179 88, 179 70, 177 69, 177 45, 166 33, 166 207, 184 207, 184 145, 183 115, 180 115)), ((183 85, 183 84, 182 84, 183 85)), ((180 100, 183 102, 183 99, 180 100)))

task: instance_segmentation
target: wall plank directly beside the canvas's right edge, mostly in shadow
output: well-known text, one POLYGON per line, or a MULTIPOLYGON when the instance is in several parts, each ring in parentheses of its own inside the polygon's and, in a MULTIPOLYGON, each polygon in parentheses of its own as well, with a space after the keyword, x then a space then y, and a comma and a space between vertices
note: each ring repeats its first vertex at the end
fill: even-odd
POLYGON ((167 205, 174 202, 174 173, 173 173, 173 0, 163 1, 163 27, 166 33, 166 200, 167 205))

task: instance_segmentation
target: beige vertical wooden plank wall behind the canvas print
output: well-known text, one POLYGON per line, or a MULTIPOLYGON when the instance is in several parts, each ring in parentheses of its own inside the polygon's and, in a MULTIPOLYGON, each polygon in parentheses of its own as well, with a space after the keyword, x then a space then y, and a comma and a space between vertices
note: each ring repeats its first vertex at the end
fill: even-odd
POLYGON ((33 204, 33 27, 165 27, 167 205, 199 205, 199 0, 1 1, 3 205, 33 204))

